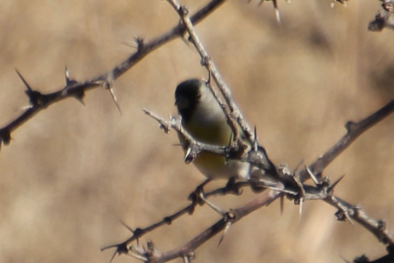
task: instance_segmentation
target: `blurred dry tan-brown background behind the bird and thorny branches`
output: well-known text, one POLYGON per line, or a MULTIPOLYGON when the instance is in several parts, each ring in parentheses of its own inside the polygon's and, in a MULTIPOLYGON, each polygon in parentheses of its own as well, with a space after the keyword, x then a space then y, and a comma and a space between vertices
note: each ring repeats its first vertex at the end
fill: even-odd
MULTIPOLYGON (((191 10, 206 1, 182 1, 191 10)), ((310 163, 358 120, 394 97, 394 32, 367 32, 378 1, 280 2, 282 26, 271 3, 228 1, 197 27, 208 52, 275 163, 310 163)), ((17 68, 43 92, 64 85, 64 65, 78 80, 101 75, 134 51, 123 43, 152 39, 176 25, 165 1, 2 0, 0 7, 0 124, 28 105, 17 68)), ((39 113, 12 133, 0 153, 0 261, 108 262, 131 227, 146 226, 187 204, 203 180, 193 165, 145 116, 175 113, 175 85, 206 77, 197 53, 181 40, 160 47, 115 82, 123 111, 102 89, 39 113)), ((336 194, 361 204, 394 231, 394 116, 363 134, 326 175, 345 174, 336 194)), ((224 183, 224 182, 218 182, 224 183)), ((236 207, 253 198, 214 202, 236 207)), ((273 203, 234 225, 222 245, 213 238, 196 262, 343 262, 384 253, 359 226, 335 221, 335 210, 315 201, 273 203)), ((200 207, 143 238, 166 250, 218 220, 200 207)), ((138 262, 128 256, 114 262, 138 262)), ((178 260, 177 262, 180 262, 178 260)))

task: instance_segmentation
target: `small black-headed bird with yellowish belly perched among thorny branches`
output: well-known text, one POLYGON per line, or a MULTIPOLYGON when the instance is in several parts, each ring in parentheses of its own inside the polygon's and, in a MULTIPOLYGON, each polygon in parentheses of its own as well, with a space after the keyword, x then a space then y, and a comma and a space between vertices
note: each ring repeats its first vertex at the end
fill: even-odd
MULTIPOLYGON (((180 83, 175 90, 175 105, 182 117, 182 126, 194 139, 214 146, 227 146, 231 141, 226 116, 212 91, 204 81, 190 79, 180 83)), ((184 151, 188 142, 178 133, 184 151)), ((240 160, 226 160, 224 156, 201 152, 194 160, 197 169, 208 179, 250 177, 250 164, 240 160)))

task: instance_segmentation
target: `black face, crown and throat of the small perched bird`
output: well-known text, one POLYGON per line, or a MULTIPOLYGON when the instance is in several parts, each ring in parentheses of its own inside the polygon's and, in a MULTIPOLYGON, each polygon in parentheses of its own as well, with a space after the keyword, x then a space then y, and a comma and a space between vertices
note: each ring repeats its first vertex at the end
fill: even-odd
POLYGON ((183 122, 189 122, 201 98, 201 80, 191 79, 180 83, 175 90, 175 105, 183 122))

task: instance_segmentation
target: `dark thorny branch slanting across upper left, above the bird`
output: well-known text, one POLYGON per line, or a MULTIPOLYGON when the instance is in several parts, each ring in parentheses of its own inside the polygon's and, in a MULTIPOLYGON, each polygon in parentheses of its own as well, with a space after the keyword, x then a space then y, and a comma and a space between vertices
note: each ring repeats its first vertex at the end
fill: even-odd
MULTIPOLYGON (((207 5, 202 7, 197 11, 191 18, 192 23, 198 23, 207 15, 211 14, 216 8, 223 4, 225 0, 212 0, 207 5)), ((66 70, 66 86, 62 89, 43 94, 39 91, 33 90, 27 82, 21 77, 22 81, 27 86, 26 94, 29 97, 30 105, 29 107, 16 117, 9 124, 0 128, 0 148, 1 146, 8 145, 11 140, 11 133, 19 128, 22 124, 26 123, 34 115, 36 115, 41 110, 51 106, 52 104, 62 101, 66 98, 76 98, 78 101, 83 100, 85 92, 87 90, 104 87, 112 92, 112 83, 117 80, 122 74, 133 67, 137 62, 142 60, 145 56, 150 54, 152 51, 156 50, 159 46, 173 40, 178 36, 182 36, 185 31, 183 24, 179 24, 173 27, 168 32, 152 39, 151 41, 145 42, 141 38, 137 38, 137 51, 131 56, 125 59, 118 66, 114 67, 108 73, 105 73, 99 77, 86 80, 86 81, 76 81, 68 78, 68 71, 66 70)), ((114 98, 114 97, 113 97, 114 98)), ((115 100, 115 98, 114 98, 115 100)), ((116 103, 116 100, 115 100, 116 103)))

